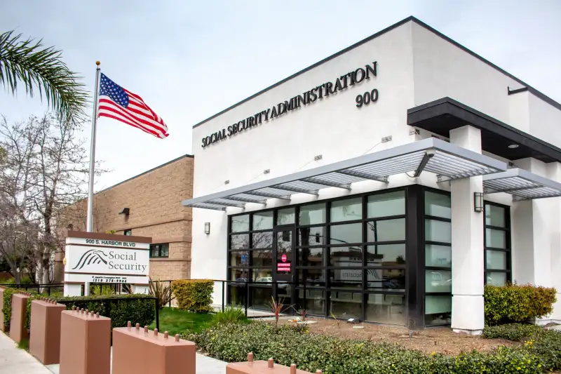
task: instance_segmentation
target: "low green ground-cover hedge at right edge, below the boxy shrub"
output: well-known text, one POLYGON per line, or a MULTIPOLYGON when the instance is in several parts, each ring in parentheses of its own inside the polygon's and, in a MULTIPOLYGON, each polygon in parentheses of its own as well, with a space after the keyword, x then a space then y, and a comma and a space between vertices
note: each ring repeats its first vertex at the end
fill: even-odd
POLYGON ((561 369, 561 333, 544 330, 539 326, 511 323, 488 326, 483 330, 484 338, 503 338, 522 342, 525 351, 539 357, 543 370, 561 369))

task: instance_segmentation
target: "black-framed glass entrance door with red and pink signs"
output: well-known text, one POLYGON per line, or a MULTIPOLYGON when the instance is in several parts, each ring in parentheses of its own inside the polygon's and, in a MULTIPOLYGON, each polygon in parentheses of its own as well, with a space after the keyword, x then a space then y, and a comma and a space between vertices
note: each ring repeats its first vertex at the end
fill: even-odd
MULTIPOLYGON (((276 281, 276 300, 284 300, 284 305, 293 305, 295 301, 295 227, 277 227, 274 230, 275 263, 273 265, 276 281)), ((288 311, 286 311, 288 312, 288 311)))

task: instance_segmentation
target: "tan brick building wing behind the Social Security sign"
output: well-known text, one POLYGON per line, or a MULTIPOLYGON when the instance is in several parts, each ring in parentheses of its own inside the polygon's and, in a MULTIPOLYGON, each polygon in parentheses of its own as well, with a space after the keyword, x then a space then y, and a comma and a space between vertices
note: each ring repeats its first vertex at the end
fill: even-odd
MULTIPOLYGON (((193 168, 194 158, 187 154, 94 195, 94 232, 152 238, 151 279, 191 276, 191 208, 180 202, 193 196, 193 168)), ((79 211, 83 219, 65 226, 85 231, 86 201, 67 210, 79 211)), ((63 272, 62 258, 57 256, 58 276, 63 272)))

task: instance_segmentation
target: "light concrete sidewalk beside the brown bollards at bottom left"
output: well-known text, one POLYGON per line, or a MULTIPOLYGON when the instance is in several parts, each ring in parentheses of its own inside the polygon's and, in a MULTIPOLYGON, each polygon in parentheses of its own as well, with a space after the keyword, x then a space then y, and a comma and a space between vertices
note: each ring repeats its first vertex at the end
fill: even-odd
MULTIPOLYGON (((226 362, 197 354, 196 374, 224 374, 226 362)), ((48 368, 37 361, 34 356, 0 332, 0 374, 58 374, 58 365, 48 368)))

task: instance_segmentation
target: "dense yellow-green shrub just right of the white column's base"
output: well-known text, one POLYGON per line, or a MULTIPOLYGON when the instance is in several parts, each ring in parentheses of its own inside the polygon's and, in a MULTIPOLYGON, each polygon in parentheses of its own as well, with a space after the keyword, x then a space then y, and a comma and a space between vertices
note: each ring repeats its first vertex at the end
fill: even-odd
POLYGON ((531 284, 485 286, 485 324, 526 322, 553 312, 555 288, 531 284))

